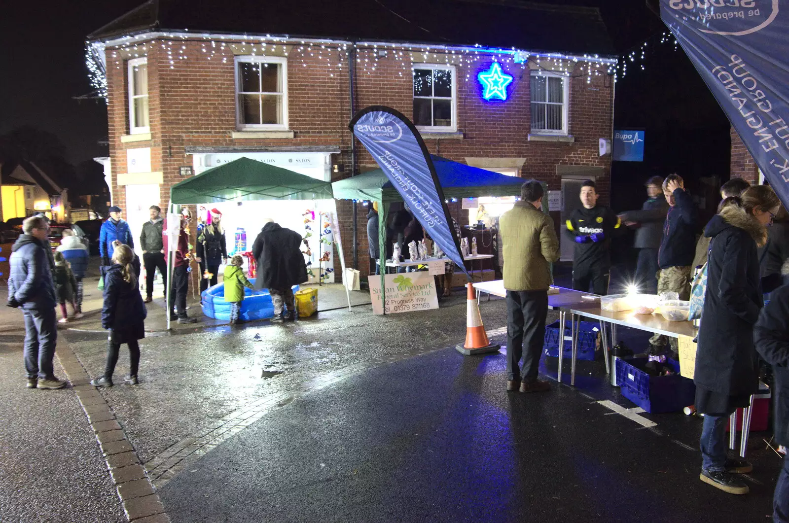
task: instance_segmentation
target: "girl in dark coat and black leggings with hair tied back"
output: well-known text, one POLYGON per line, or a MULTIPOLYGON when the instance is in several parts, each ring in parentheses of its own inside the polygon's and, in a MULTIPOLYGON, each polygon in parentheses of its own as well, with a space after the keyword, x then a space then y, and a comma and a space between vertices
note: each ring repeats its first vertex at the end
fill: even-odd
POLYGON ((129 375, 124 379, 129 385, 137 384, 140 365, 140 345, 137 340, 145 337, 145 309, 137 275, 133 267, 134 254, 128 245, 118 245, 112 255, 112 265, 104 276, 104 307, 101 325, 110 331, 107 338, 107 364, 104 375, 93 379, 93 387, 112 387, 112 374, 118 363, 121 345, 129 346, 129 375))

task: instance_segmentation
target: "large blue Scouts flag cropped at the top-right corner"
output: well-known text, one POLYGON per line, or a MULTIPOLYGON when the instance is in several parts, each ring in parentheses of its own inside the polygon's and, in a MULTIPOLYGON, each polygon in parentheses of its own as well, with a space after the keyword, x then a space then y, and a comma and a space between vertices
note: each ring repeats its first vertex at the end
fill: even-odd
POLYGON ((660 0, 660 16, 789 205, 787 2, 660 0))

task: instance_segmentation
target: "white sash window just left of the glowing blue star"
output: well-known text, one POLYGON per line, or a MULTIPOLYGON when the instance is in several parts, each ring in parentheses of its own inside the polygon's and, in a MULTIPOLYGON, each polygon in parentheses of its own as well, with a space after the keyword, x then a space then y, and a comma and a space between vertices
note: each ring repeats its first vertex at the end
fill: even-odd
POLYGON ((413 67, 413 123, 425 131, 454 131, 455 85, 453 65, 413 67))

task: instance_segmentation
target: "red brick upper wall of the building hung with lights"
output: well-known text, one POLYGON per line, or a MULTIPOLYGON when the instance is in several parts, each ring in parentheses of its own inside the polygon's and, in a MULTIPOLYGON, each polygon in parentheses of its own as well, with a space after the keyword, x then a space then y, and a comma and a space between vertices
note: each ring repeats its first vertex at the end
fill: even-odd
MULTIPOLYGON (((316 49, 317 50, 317 49, 316 49)), ((292 139, 243 139, 231 137, 235 129, 234 56, 229 47, 211 47, 204 41, 158 39, 148 43, 148 93, 151 115, 151 141, 123 144, 129 133, 125 59, 107 51, 109 85, 108 119, 110 155, 114 181, 126 172, 126 148, 151 147, 151 169, 163 172, 161 199, 166 203, 170 186, 181 181, 179 166, 193 164, 187 146, 335 146, 342 152, 333 163, 341 166, 336 179, 350 176, 351 135, 348 61, 345 51, 323 50, 323 59, 310 56, 298 47, 288 55, 289 124, 292 139), (208 52, 203 49, 208 46, 208 52), (168 51, 170 51, 168 53, 168 51), (213 54, 211 53, 213 51, 213 54), (340 59, 342 54, 342 60, 340 59), (326 60, 326 57, 329 60, 326 60), (181 58, 187 57, 187 58, 181 58), (211 59, 209 59, 211 57, 211 59), (170 61, 174 62, 170 64, 170 61), (341 64, 340 67, 337 65, 341 64), (306 65, 306 66, 305 66, 306 65), (333 76, 332 76, 333 75, 333 76)), ((260 53, 258 53, 260 54, 260 53)), ((387 105, 406 116, 413 114, 410 61, 387 57, 375 62, 371 53, 359 52, 356 73, 356 109, 387 105), (369 62, 364 62, 365 58, 369 62), (368 65, 367 71, 364 69, 368 65), (405 63, 405 66, 404 66, 405 63)), ((549 189, 560 189, 558 165, 585 165, 604 168, 598 188, 608 200, 610 158, 600 158, 597 140, 612 134, 612 78, 602 75, 570 79, 569 132, 574 143, 529 141, 529 69, 507 64, 503 69, 514 77, 506 103, 486 102, 481 98, 476 76, 487 69, 490 58, 482 57, 471 65, 456 68, 458 89, 458 131, 462 140, 426 138, 428 149, 449 159, 465 163, 466 157, 525 158, 521 174, 547 181, 549 189), (466 80, 466 75, 469 80, 466 80)), ((357 144, 357 172, 377 168, 372 157, 357 144)), ((114 184, 114 201, 125 205, 125 191, 114 184)), ((459 204, 452 206, 459 215, 459 204)), ((353 263, 352 208, 338 201, 338 221, 346 263, 353 263)), ((364 275, 368 267, 366 215, 368 208, 358 204, 358 263, 364 275)), ((337 267, 337 275, 339 275, 337 267)))

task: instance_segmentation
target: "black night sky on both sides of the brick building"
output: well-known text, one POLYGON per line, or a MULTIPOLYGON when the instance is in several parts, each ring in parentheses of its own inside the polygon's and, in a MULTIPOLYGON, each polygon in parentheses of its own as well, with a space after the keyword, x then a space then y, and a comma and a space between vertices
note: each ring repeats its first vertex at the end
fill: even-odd
MULTIPOLYGON (((620 52, 665 30, 642 0, 547 2, 600 6, 620 52)), ((107 155, 107 147, 99 144, 107 140, 103 100, 73 99, 92 91, 84 65, 84 36, 140 3, 6 2, 0 20, 0 133, 18 125, 50 131, 62 140, 67 159, 75 164, 107 155)), ((691 179, 728 175, 727 120, 682 50, 673 51, 671 45, 654 50, 645 71, 631 67, 618 82, 615 127, 647 129, 645 163, 615 163, 615 185, 667 170, 679 170, 691 179)))

